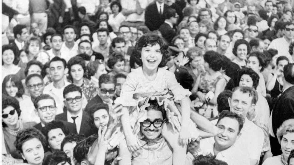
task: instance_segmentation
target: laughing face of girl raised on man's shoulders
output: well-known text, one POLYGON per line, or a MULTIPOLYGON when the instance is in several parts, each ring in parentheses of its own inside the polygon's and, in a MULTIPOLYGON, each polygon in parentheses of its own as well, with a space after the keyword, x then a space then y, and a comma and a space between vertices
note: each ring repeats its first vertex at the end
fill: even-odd
POLYGON ((148 70, 154 70, 158 68, 158 65, 162 60, 162 53, 159 44, 147 45, 142 48, 141 59, 143 63, 143 68, 148 70))

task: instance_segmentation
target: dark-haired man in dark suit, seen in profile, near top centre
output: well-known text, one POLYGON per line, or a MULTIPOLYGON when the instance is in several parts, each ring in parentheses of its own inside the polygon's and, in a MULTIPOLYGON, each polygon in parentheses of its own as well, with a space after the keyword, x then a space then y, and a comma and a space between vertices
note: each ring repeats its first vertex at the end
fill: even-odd
POLYGON ((168 8, 163 17, 165 18, 164 23, 158 30, 161 32, 162 37, 170 43, 176 36, 176 31, 173 29, 173 25, 177 23, 179 15, 176 13, 175 9, 168 8))

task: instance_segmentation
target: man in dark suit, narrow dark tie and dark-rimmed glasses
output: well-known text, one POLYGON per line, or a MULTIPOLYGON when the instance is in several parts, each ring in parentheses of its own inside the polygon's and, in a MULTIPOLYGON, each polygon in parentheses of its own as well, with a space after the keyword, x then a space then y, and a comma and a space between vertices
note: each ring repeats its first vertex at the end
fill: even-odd
POLYGON ((66 86, 63 90, 64 105, 67 111, 56 116, 56 119, 68 121, 77 127, 79 134, 90 136, 96 131, 88 124, 87 114, 82 110, 82 90, 74 84, 66 86))

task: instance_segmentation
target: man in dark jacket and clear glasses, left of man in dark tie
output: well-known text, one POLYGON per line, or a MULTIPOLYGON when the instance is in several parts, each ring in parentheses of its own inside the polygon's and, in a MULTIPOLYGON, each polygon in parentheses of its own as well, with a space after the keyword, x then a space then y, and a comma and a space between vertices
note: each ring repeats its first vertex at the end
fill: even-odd
MULTIPOLYGON (((40 130, 43 134, 45 133, 44 127, 47 123, 55 120, 56 105, 55 100, 48 94, 38 96, 34 102, 35 112, 40 117, 40 123, 34 127, 40 130)), ((69 130, 69 133, 77 133, 77 128, 73 123, 62 121, 65 127, 69 130)))

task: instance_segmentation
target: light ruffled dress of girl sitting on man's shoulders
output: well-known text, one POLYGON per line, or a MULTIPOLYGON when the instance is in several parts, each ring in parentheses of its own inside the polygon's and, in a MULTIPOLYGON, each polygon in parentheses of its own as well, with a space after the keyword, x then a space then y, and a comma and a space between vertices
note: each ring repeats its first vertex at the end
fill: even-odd
MULTIPOLYGON (((166 69, 166 67, 158 68, 156 78, 153 81, 145 78, 142 67, 132 69, 123 84, 120 97, 114 101, 116 104, 130 107, 130 124, 135 135, 138 135, 140 131, 140 122, 147 119, 145 108, 149 106, 149 99, 156 99, 159 105, 164 105, 168 119, 167 124, 171 124, 173 129, 168 131, 179 132, 181 129, 182 118, 179 111, 181 106, 178 102, 185 97, 189 97, 191 92, 184 89, 177 82, 174 73, 166 69)), ((196 139, 199 136, 196 124, 191 119, 189 119, 189 122, 191 123, 189 136, 196 139)), ((111 147, 115 147, 123 139, 122 127, 117 127, 109 144, 111 147)))

